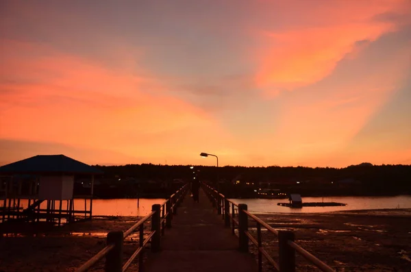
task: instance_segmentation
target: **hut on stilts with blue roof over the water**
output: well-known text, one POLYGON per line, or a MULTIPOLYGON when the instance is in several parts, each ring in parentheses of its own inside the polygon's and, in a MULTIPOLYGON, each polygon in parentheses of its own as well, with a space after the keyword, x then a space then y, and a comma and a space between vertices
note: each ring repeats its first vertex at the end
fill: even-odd
POLYGON ((47 221, 60 225, 91 219, 94 178, 102 173, 64 155, 38 155, 0 166, 0 199, 3 200, 0 220, 2 223, 47 221), (90 177, 89 194, 74 195, 76 176, 90 177), (77 199, 84 201, 84 210, 75 210, 77 199))

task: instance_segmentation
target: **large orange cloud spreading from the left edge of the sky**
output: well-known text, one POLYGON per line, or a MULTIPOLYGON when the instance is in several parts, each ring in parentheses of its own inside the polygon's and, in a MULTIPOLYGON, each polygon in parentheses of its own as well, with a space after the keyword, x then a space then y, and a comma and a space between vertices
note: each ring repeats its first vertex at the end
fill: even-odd
POLYGON ((160 143, 183 129, 219 130, 205 111, 162 95, 164 86, 154 77, 112 71, 47 45, 2 43, 7 50, 0 70, 1 138, 130 154, 155 149, 145 146, 145 138, 160 143))

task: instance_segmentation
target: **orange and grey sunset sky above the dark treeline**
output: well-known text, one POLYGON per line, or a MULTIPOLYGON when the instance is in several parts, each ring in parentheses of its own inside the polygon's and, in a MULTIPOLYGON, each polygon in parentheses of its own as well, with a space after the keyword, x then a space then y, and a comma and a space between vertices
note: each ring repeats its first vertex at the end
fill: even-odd
POLYGON ((0 2, 0 165, 411 164, 410 0, 0 2))

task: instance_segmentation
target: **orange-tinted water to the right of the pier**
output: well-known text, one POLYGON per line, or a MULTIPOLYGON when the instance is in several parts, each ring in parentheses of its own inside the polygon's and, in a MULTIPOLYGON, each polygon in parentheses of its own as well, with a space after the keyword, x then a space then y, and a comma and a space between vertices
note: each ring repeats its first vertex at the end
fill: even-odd
POLYGON ((288 202, 288 199, 232 199, 236 203, 245 203, 250 212, 256 214, 272 212, 336 212, 341 210, 375 210, 411 208, 411 195, 399 195, 396 197, 303 197, 303 202, 339 202, 347 203, 347 206, 334 207, 303 207, 288 208, 277 206, 279 202, 288 202))

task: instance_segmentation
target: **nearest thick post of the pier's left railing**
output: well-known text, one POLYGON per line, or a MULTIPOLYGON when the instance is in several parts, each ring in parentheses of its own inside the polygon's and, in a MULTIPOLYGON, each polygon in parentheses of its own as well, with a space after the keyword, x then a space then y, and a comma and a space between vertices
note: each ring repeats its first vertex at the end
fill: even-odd
POLYGON ((114 248, 105 256, 105 272, 123 271, 123 232, 109 232, 107 245, 114 244, 114 248))

